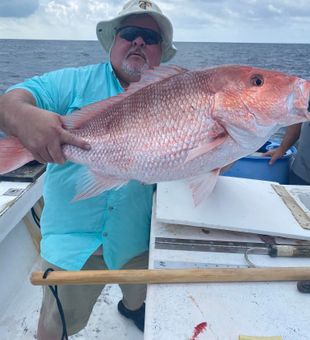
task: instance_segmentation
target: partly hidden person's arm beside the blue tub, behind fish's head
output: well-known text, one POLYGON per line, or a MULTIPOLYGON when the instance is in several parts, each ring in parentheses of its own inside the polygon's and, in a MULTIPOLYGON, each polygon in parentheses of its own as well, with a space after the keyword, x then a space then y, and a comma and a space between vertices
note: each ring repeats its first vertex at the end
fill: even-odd
POLYGON ((269 164, 274 164, 279 158, 281 158, 286 151, 294 145, 299 139, 301 124, 290 125, 286 128, 285 135, 280 146, 276 149, 269 150, 263 154, 263 156, 270 156, 269 164))

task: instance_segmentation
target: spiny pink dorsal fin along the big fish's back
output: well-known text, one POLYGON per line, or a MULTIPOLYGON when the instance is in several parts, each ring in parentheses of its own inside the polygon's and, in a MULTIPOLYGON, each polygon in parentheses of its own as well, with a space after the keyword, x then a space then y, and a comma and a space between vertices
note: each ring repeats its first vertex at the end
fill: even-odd
POLYGON ((93 119, 102 114, 102 112, 109 110, 111 107, 122 102, 124 99, 138 92, 142 88, 187 71, 187 69, 176 65, 158 66, 153 69, 146 70, 142 74, 140 81, 132 83, 125 92, 87 105, 81 110, 74 111, 69 116, 62 116, 63 125, 67 129, 78 129, 90 119, 93 119))

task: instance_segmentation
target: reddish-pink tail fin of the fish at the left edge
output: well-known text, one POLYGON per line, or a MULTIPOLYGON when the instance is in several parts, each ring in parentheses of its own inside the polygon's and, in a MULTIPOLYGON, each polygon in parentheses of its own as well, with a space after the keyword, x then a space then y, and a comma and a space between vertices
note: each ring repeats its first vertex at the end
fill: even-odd
POLYGON ((22 165, 34 160, 16 137, 7 137, 0 140, 0 174, 18 169, 22 165))

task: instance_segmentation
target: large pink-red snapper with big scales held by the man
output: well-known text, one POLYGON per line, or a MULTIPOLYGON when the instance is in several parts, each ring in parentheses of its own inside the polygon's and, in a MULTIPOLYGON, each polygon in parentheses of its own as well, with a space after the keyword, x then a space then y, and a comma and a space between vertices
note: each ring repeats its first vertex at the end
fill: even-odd
MULTIPOLYGON (((279 128, 310 120, 309 96, 310 81, 247 65, 147 70, 124 93, 61 116, 67 130, 91 145, 63 146, 66 160, 87 167, 74 199, 130 180, 186 180, 199 204, 222 168, 279 128)), ((16 137, 0 141, 0 173, 32 159, 16 137)))

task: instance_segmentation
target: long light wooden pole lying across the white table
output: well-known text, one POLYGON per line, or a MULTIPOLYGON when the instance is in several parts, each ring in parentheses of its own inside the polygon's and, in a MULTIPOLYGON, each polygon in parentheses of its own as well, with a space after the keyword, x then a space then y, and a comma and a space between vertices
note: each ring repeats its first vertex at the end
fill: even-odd
POLYGON ((132 269, 33 272, 33 285, 266 282, 310 280, 310 267, 132 269))

